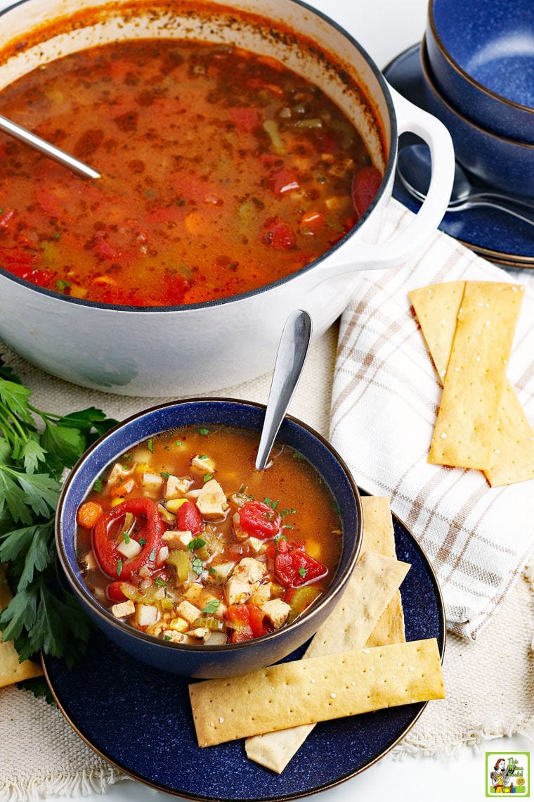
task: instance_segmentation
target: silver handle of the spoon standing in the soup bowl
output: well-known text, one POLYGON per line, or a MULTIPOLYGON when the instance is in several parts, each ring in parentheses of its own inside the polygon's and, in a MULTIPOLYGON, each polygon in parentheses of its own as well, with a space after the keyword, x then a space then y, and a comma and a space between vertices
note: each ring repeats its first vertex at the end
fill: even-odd
POLYGON ((258 471, 263 471, 271 454, 276 435, 299 382, 310 338, 310 315, 303 310, 291 312, 283 326, 276 354, 271 390, 255 462, 258 471))

